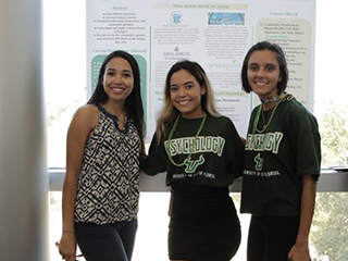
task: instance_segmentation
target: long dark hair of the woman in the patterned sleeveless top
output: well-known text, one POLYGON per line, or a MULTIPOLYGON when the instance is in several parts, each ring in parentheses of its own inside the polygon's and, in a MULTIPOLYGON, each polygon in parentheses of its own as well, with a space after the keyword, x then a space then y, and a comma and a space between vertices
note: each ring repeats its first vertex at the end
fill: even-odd
POLYGON ((114 51, 110 53, 101 64, 98 82, 96 89, 87 101, 87 104, 95 104, 95 103, 104 103, 109 100, 109 96, 107 95, 102 82, 103 76, 105 73, 105 69, 108 63, 114 58, 123 58, 125 59, 132 67, 133 77, 134 77, 134 88, 130 95, 127 97, 125 102, 125 108, 129 117, 133 120, 134 125, 136 126, 140 141, 141 141, 141 152, 140 157, 145 157, 145 144, 144 144, 144 130, 145 130, 145 122, 144 122, 144 108, 142 108, 142 100, 141 100, 141 92, 140 92, 140 71, 137 61, 134 57, 125 51, 114 51))

